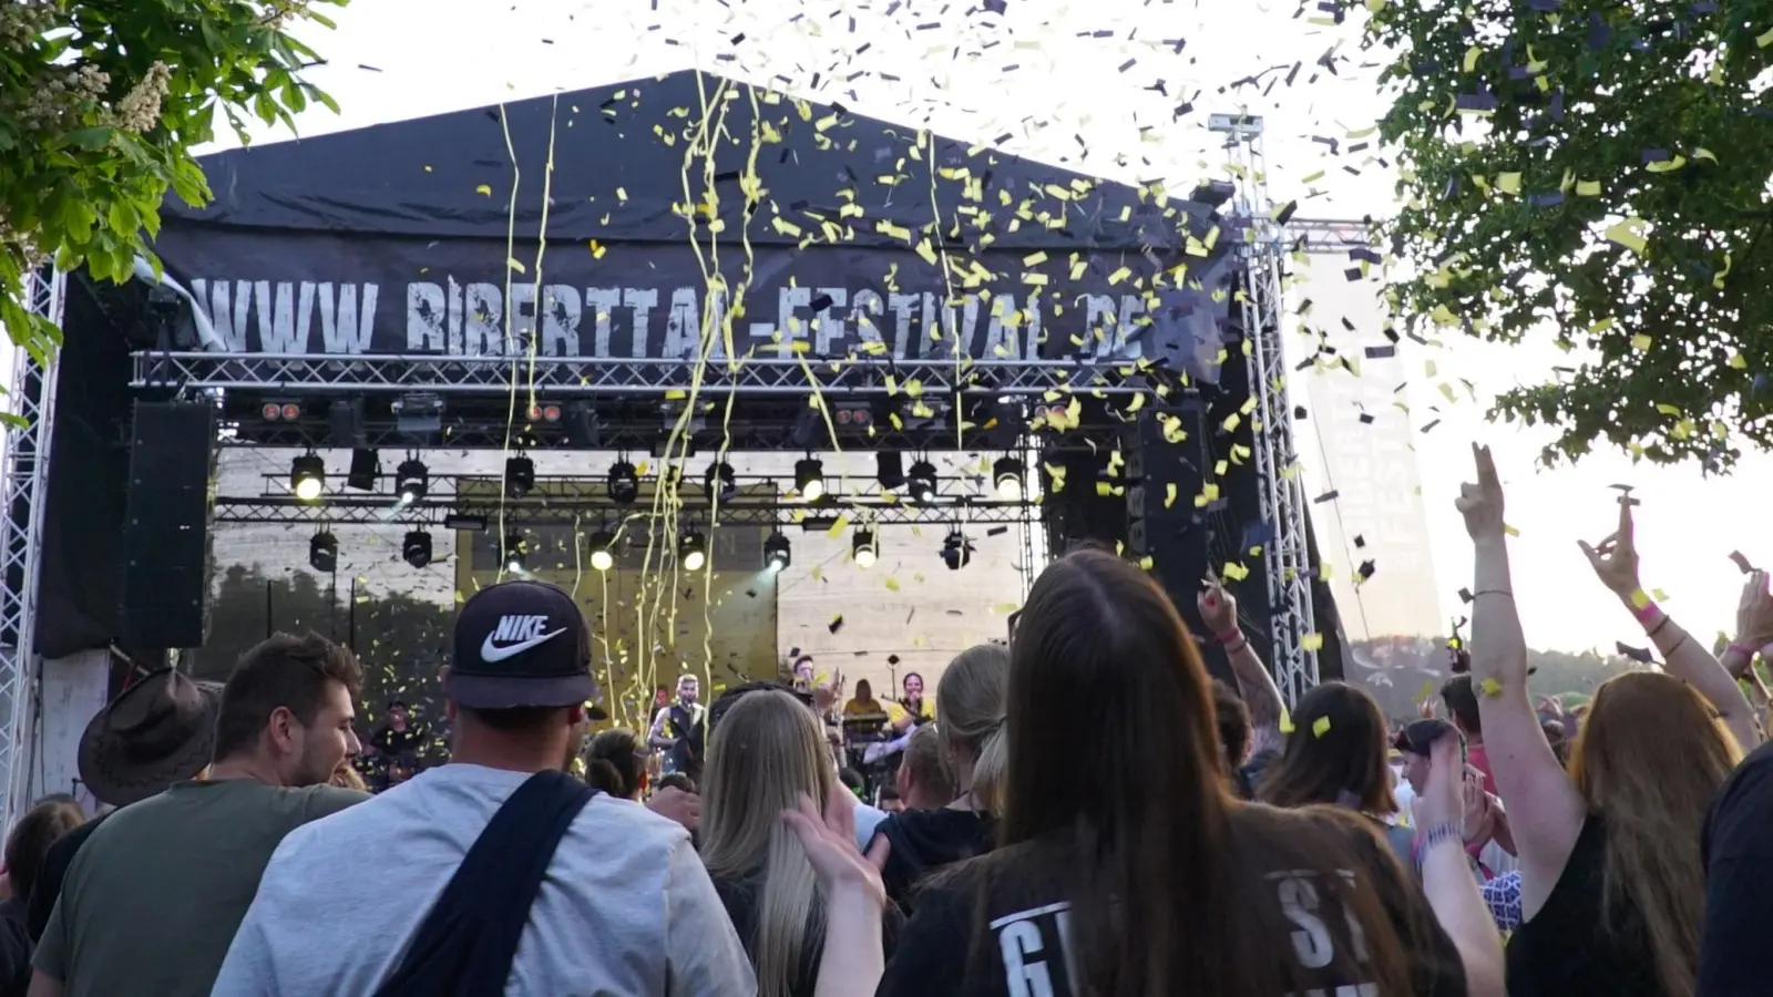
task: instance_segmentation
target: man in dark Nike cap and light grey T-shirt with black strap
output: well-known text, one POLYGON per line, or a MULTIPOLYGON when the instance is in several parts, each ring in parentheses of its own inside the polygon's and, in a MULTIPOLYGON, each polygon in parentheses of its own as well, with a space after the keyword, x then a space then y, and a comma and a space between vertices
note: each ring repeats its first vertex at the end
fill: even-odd
POLYGON ((573 598, 516 580, 456 616, 447 765, 293 834, 215 992, 750 993, 750 967, 690 836, 558 772, 603 718, 573 598), (349 889, 374 883, 374 889, 349 889), (465 944, 456 924, 484 924, 465 944))

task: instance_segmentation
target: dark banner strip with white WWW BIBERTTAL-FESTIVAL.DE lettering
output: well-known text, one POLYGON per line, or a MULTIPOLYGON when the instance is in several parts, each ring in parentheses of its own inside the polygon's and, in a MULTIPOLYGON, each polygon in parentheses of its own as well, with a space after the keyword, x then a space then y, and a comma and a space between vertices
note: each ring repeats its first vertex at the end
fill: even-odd
POLYGON ((167 273, 232 353, 1151 358, 1216 381, 1236 254, 619 245, 266 232, 168 220, 167 273), (934 255, 934 250, 926 254, 934 255), (706 254, 706 247, 702 247, 706 254), (945 279, 947 277, 947 279, 945 279), (725 323, 730 316, 730 335, 725 323), (507 342, 507 326, 511 341, 507 342))

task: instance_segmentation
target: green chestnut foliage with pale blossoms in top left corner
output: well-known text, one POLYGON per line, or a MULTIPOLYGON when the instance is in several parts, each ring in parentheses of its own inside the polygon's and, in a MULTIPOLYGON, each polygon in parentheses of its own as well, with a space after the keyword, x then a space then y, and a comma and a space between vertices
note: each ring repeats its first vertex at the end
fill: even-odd
MULTIPOLYGON (((126 280, 167 192, 209 200, 191 149, 220 112, 289 124, 314 51, 285 34, 332 21, 310 0, 7 0, 0 4, 0 323, 39 360, 59 330, 28 314, 23 277, 55 261, 126 280)), ((342 5, 346 0, 317 0, 342 5)), ((333 106, 337 110, 337 106, 333 106)))

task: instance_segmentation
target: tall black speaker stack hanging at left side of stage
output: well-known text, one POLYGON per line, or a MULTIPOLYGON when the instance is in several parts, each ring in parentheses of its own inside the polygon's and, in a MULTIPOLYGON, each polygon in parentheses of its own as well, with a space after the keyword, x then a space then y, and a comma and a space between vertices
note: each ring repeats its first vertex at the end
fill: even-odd
POLYGON ((209 600, 209 404, 138 403, 122 530, 122 640, 200 648, 209 600))

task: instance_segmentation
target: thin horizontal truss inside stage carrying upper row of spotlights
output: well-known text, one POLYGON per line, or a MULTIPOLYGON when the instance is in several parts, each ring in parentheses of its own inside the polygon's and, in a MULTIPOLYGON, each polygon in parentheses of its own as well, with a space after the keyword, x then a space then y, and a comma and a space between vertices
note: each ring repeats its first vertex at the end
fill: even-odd
MULTIPOLYGON (((628 516, 652 516, 645 500, 617 506, 608 498, 422 498, 401 506, 394 498, 333 498, 324 504, 307 504, 284 495, 216 498, 216 523, 309 523, 314 527, 447 527, 454 516, 479 516, 488 527, 558 527, 619 523, 628 516)), ((835 498, 819 504, 789 500, 736 500, 711 507, 707 502, 674 504, 660 516, 722 527, 738 525, 803 525, 819 527, 849 516, 855 525, 956 525, 1021 523, 1037 514, 1028 502, 998 500, 938 500, 931 504, 885 502, 879 498, 835 498)), ((477 529, 466 527, 466 529, 477 529)))

